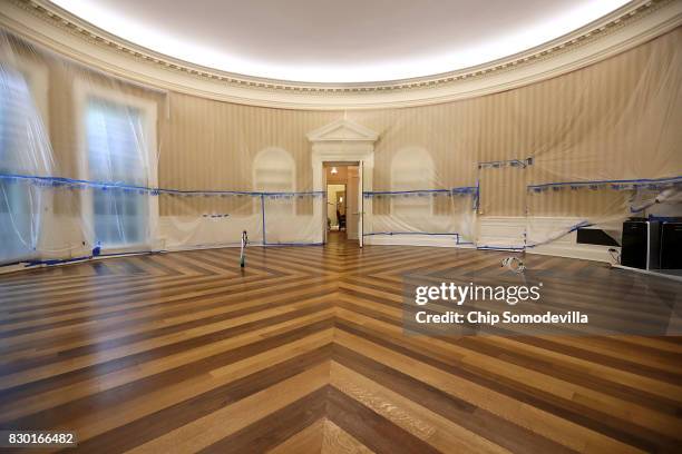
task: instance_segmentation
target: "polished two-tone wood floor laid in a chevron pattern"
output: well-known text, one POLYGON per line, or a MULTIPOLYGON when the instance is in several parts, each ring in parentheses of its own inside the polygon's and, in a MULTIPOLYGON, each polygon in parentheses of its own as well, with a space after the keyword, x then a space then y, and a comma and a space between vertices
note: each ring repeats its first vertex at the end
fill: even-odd
MULTIPOLYGON (((402 334, 401 272, 501 256, 335 241, 0 276, 0 428, 84 453, 680 452, 681 338, 402 334)), ((528 264, 591 292, 616 273, 528 264)))

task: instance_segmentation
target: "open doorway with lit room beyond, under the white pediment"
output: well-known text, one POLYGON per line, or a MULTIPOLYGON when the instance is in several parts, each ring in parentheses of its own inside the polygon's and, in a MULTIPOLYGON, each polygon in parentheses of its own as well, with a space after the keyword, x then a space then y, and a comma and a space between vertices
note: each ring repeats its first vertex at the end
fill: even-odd
POLYGON ((325 188, 324 243, 359 241, 361 194, 357 161, 323 162, 325 188))

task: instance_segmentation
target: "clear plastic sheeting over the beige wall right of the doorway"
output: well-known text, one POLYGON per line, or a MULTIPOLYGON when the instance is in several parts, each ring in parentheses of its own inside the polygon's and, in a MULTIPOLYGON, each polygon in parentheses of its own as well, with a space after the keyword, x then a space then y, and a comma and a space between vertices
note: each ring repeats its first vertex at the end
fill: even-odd
MULTIPOLYGON (((468 230, 480 248, 540 248, 586 226, 620 240, 631 216, 681 216, 681 45, 676 29, 527 87, 438 106, 349 112, 380 132, 372 190, 399 193, 392 161, 402 159, 402 149, 423 150, 428 158, 415 164, 430 160, 433 170, 422 165, 412 174, 422 176, 421 186, 409 189, 477 185, 477 213, 457 209, 454 216, 471 219, 468 230)), ((462 229, 429 223, 436 211, 415 204, 425 216, 409 218, 394 205, 374 203, 373 215, 383 223, 372 220, 370 235, 462 229)))

